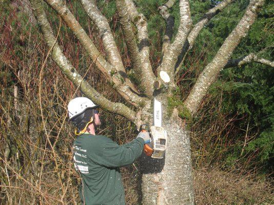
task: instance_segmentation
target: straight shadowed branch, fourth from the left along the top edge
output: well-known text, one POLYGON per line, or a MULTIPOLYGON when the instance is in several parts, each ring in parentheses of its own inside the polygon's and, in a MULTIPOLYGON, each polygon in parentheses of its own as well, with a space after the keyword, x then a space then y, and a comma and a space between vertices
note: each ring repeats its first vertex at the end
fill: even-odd
MULTIPOLYGON (((117 11, 120 16, 120 23, 122 25, 124 38, 129 52, 129 57, 132 62, 132 67, 136 71, 136 75, 140 77, 141 87, 145 91, 146 95, 152 96, 153 94, 153 81, 154 74, 152 71, 143 70, 141 66, 141 58, 139 55, 139 50, 135 42, 135 37, 132 32, 131 22, 128 14, 128 10, 125 4, 125 0, 116 0, 117 11)), ((147 67, 145 67, 147 69, 147 67)))

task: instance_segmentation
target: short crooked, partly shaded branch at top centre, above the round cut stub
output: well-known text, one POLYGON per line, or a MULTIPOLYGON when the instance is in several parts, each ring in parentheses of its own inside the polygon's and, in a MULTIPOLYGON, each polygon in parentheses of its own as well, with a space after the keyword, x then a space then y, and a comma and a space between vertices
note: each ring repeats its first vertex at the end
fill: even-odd
POLYGON ((173 36, 174 17, 169 14, 168 9, 171 8, 174 3, 175 0, 169 0, 166 4, 159 7, 160 14, 166 20, 166 31, 163 38, 162 54, 166 52, 173 36))

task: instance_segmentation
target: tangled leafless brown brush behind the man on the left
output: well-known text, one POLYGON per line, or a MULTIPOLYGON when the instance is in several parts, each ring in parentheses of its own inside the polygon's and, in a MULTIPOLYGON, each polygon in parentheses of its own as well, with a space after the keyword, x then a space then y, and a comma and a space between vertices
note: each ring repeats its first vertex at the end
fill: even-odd
MULTIPOLYGON (((1 16, 0 26, 1 204, 79 204, 81 179, 73 166, 73 127, 66 107, 81 93, 45 56, 47 47, 35 27, 23 28, 17 9, 9 12, 1 16)), ((97 90, 113 101, 120 100, 81 49, 75 52, 72 43, 62 38, 61 44, 79 72, 89 68, 86 79, 97 90)), ((105 123, 98 133, 118 143, 132 139, 135 129, 125 119, 104 112, 101 116, 105 123)), ((126 192, 132 193, 127 186, 132 180, 127 178, 126 192)), ((132 200, 136 201, 127 197, 130 204, 132 200)))

